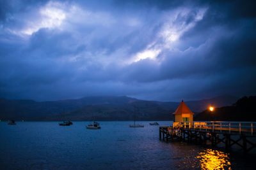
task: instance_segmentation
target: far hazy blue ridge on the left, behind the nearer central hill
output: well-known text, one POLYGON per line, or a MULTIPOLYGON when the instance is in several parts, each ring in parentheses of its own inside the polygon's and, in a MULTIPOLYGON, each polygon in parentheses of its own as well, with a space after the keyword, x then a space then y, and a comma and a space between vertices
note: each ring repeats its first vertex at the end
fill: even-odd
MULTIPOLYGON (((138 99, 126 96, 95 96, 83 97, 81 99, 70 99, 63 101, 36 102, 32 100, 8 100, 0 99, 0 119, 1 120, 45 120, 45 117, 60 117, 63 111, 76 110, 88 104, 108 104, 118 105, 132 103, 138 99)), ((60 119, 60 118, 59 118, 60 119)))

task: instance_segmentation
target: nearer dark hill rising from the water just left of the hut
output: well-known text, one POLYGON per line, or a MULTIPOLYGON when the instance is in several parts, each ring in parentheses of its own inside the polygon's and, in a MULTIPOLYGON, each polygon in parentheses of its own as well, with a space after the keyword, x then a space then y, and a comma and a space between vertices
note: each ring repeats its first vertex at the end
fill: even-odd
MULTIPOLYGON (((65 115, 69 120, 172 120, 174 110, 163 108, 149 101, 135 101, 120 105, 86 105, 65 115)), ((45 120, 58 120, 47 117, 45 120)))

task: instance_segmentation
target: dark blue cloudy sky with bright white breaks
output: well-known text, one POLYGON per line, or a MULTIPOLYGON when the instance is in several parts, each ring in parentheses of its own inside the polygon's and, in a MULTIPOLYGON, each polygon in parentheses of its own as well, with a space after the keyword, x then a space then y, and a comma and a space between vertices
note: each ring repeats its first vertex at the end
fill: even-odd
POLYGON ((255 95, 255 8, 253 1, 1 0, 0 97, 255 95))

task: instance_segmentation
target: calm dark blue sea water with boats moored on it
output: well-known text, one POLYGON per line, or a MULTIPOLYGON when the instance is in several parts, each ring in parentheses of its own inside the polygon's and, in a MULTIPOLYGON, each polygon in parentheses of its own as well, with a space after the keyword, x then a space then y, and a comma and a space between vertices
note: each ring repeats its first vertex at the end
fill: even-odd
MULTIPOLYGON (((0 122, 1 169, 255 169, 255 154, 159 141, 159 126, 132 122, 0 122)), ((170 125, 170 122, 159 122, 170 125)))

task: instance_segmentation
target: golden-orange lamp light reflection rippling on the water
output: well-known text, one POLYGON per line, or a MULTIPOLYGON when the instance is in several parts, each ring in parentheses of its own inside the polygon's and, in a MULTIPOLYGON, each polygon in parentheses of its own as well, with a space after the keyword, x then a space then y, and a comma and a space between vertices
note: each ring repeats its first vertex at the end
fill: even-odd
POLYGON ((202 169, 231 169, 228 153, 206 149, 205 152, 200 152, 197 158, 200 159, 202 169))

